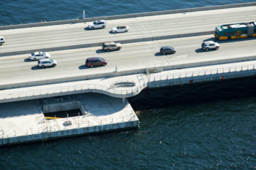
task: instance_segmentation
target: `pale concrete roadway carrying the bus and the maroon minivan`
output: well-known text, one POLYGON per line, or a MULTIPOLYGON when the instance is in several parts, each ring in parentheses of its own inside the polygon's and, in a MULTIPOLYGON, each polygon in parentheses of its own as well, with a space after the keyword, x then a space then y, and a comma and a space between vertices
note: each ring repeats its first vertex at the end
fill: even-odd
POLYGON ((101 47, 55 51, 50 52, 50 55, 58 61, 58 66, 47 69, 39 69, 37 61, 29 61, 29 54, 2 57, 0 58, 0 85, 115 72, 116 67, 120 72, 154 65, 163 66, 256 55, 256 39, 220 42, 219 50, 203 52, 200 49, 201 42, 211 38, 212 36, 193 36, 155 42, 138 42, 123 45, 120 51, 111 52, 104 52, 101 47), (165 45, 176 47, 177 53, 160 55, 159 47, 165 45), (87 68, 84 63, 89 57, 105 58, 108 60, 108 65, 87 68))

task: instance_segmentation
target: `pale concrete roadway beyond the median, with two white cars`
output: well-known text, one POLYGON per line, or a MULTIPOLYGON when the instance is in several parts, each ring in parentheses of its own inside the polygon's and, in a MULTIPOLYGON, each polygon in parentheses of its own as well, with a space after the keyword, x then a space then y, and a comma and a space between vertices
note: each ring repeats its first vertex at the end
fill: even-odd
POLYGON ((215 26, 252 21, 255 18, 256 7, 239 7, 107 20, 105 29, 92 31, 87 29, 88 23, 4 30, 0 31, 0 35, 4 35, 6 43, 0 46, 0 53, 212 31, 215 26), (129 32, 110 34, 110 29, 118 25, 129 26, 129 32))

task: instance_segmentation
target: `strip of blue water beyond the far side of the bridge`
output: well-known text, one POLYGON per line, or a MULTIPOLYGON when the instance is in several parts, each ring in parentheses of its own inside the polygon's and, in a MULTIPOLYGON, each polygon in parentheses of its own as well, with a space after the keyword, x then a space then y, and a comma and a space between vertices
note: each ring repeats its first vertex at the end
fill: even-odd
POLYGON ((255 0, 0 0, 0 25, 238 4, 255 0))

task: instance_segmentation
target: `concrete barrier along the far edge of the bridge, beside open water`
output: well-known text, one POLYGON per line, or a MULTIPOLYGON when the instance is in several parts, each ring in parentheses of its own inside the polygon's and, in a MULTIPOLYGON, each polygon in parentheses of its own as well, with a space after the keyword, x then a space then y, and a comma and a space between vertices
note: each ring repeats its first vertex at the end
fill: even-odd
POLYGON ((78 18, 73 20, 56 20, 56 21, 41 22, 41 23, 27 23, 27 24, 18 24, 18 25, 11 25, 11 26, 0 26, 0 30, 83 23, 83 22, 91 22, 93 20, 100 20, 100 19, 116 20, 116 19, 122 19, 122 18, 138 18, 138 17, 146 17, 146 16, 154 16, 154 15, 167 15, 167 14, 176 14, 176 13, 184 13, 184 12, 197 12, 197 11, 206 11, 206 10, 213 10, 213 9, 228 9, 228 8, 235 8, 235 7, 251 7, 251 6, 256 6, 256 2, 241 3, 241 4, 227 4, 227 5, 219 5, 219 6, 211 6, 211 7, 195 7, 195 8, 189 8, 189 9, 173 9, 173 10, 165 10, 165 11, 158 11, 158 12, 143 12, 143 13, 126 14, 126 15, 112 15, 112 16, 103 16, 98 18, 86 18, 86 19, 78 18))

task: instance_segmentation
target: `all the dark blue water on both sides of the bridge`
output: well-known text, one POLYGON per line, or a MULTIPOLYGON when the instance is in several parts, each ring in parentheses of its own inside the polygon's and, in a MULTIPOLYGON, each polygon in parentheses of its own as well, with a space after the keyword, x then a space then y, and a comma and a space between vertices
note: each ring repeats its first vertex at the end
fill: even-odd
MULTIPOLYGON (((0 0, 0 23, 249 1, 0 0)), ((1 32, 0 32, 1 34, 1 32)), ((144 90, 140 128, 0 149, 0 169, 255 169, 256 77, 144 90)))

